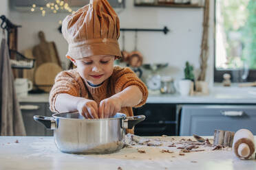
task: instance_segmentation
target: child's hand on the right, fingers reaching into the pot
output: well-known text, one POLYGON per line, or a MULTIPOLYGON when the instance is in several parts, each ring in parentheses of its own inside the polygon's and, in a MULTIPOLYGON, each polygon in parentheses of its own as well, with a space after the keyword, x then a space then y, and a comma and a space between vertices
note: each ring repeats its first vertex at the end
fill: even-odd
POLYGON ((122 101, 118 97, 109 97, 100 101, 98 114, 100 119, 114 117, 117 112, 120 112, 122 101))

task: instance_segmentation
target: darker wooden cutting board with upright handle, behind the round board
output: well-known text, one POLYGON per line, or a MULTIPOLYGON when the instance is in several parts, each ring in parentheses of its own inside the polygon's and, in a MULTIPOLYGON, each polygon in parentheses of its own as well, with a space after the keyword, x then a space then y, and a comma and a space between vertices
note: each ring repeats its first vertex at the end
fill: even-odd
POLYGON ((40 66, 45 62, 54 62, 61 66, 61 61, 58 57, 58 51, 54 42, 47 42, 45 34, 39 32, 40 44, 33 47, 33 56, 36 59, 36 65, 40 66))

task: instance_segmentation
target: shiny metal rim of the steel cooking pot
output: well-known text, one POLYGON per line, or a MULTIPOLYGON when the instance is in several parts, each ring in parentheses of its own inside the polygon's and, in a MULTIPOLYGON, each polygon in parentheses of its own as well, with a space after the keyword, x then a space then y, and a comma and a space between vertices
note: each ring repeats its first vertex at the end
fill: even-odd
MULTIPOLYGON (((116 120, 116 119, 123 119, 126 118, 126 114, 117 112, 116 115, 120 115, 119 117, 111 117, 111 118, 105 118, 105 119, 77 119, 77 118, 67 118, 67 117, 58 117, 56 115, 58 114, 79 114, 78 112, 63 112, 63 113, 55 113, 52 114, 52 117, 54 119, 65 119, 65 120, 70 120, 70 121, 105 121, 105 120, 116 120)), ((116 116, 115 115, 115 116, 116 116)))

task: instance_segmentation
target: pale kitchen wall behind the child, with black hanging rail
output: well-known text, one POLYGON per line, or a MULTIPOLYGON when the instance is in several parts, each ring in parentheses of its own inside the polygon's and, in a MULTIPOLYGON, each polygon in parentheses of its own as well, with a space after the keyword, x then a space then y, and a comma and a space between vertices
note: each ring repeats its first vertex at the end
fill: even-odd
MULTIPOLYGON (((207 81, 213 79, 213 4, 211 1, 211 23, 209 43, 210 58, 207 71, 207 81)), ((118 10, 118 9, 117 9, 118 10)), ((31 48, 39 43, 37 33, 45 32, 48 41, 56 42, 61 60, 67 62, 67 42, 58 33, 58 21, 67 14, 47 14, 45 17, 39 13, 10 12, 13 23, 23 25, 19 28, 19 51, 31 48)), ((200 45, 202 38, 203 8, 139 8, 134 7, 131 0, 127 0, 126 8, 119 13, 120 27, 126 28, 156 28, 167 26, 171 32, 139 32, 138 50, 142 52, 145 63, 169 62, 169 68, 164 74, 173 75, 176 79, 183 78, 184 63, 186 60, 194 65, 198 72, 200 45)), ((125 32, 125 49, 134 50, 134 32, 125 32)), ((122 36, 120 36, 122 48, 122 36)))

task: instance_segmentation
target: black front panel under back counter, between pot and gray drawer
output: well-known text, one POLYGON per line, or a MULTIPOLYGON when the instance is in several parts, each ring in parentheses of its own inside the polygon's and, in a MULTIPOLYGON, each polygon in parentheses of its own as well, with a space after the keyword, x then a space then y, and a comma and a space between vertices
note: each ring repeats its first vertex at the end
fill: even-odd
POLYGON ((134 133, 139 136, 175 136, 178 134, 178 112, 175 104, 145 104, 134 108, 134 115, 143 114, 145 121, 138 123, 134 133))

